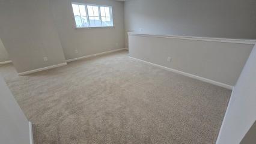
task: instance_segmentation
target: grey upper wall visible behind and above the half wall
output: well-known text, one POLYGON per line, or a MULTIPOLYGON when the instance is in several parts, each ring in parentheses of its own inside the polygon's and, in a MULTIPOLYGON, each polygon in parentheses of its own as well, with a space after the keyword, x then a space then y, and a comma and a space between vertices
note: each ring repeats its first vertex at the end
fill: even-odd
POLYGON ((125 27, 146 34, 255 39, 255 7, 255 0, 128 0, 125 27))

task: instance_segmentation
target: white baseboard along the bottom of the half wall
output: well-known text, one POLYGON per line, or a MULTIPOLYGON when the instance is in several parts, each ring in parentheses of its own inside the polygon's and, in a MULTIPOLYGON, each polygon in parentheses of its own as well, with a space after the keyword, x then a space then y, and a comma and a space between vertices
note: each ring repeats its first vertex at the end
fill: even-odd
MULTIPOLYGON (((129 58, 132 58, 132 57, 129 56, 129 58)), ((136 61, 144 62, 144 63, 146 63, 146 64, 153 65, 153 66, 155 66, 155 67, 163 68, 163 69, 165 69, 165 70, 168 70, 168 71, 171 71, 171 72, 174 72, 174 73, 182 74, 183 76, 191 77, 191 78, 193 78, 193 79, 198 79, 198 80, 201 80, 201 81, 203 81, 203 82, 207 82, 207 83, 211 83, 211 84, 213 84, 213 85, 221 86, 221 87, 223 87, 223 88, 233 89, 233 86, 227 85, 227 84, 225 84, 225 83, 216 82, 216 81, 214 81, 214 80, 206 79, 206 78, 204 78, 204 77, 195 76, 194 74, 184 73, 183 71, 178 71, 178 70, 174 70, 174 69, 172 69, 172 68, 163 67, 162 65, 153 64, 153 63, 151 63, 151 62, 143 61, 143 60, 141 60, 141 59, 137 59, 137 58, 132 58, 132 59, 135 59, 136 61)))

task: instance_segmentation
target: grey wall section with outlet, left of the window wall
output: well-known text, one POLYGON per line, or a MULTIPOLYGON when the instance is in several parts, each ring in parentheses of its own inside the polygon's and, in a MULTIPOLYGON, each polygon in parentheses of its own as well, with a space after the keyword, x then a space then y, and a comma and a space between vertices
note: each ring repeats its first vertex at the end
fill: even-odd
POLYGON ((0 37, 18 73, 66 62, 49 0, 0 1, 0 19, 0 37))

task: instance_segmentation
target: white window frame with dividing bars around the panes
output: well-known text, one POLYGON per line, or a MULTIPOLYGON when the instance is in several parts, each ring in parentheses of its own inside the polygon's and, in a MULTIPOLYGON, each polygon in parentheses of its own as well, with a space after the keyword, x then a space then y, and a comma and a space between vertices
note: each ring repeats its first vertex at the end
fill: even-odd
MULTIPOLYGON (((72 7, 73 20, 75 22, 75 28, 76 29, 77 28, 114 28, 114 19, 113 19, 114 16, 113 16, 113 10, 112 10, 111 5, 97 5, 97 4, 87 4, 87 3, 81 3, 81 2, 72 2, 71 7, 72 7), (75 18, 73 6, 72 6, 73 4, 75 4, 75 5, 85 5, 85 13, 87 15, 86 17, 87 17, 88 26, 81 26, 81 27, 76 26, 76 18, 75 18), (100 19, 101 26, 91 26, 90 25, 89 13, 88 13, 88 8, 87 8, 88 5, 98 7, 99 19, 100 19), (103 26, 102 25, 102 16, 101 16, 100 7, 109 7, 109 14, 110 14, 110 20, 111 20, 110 22, 112 23, 112 26, 103 26)), ((80 11, 79 11, 79 13, 80 13, 80 11)), ((81 16, 81 13, 80 13, 80 16, 81 16)))

